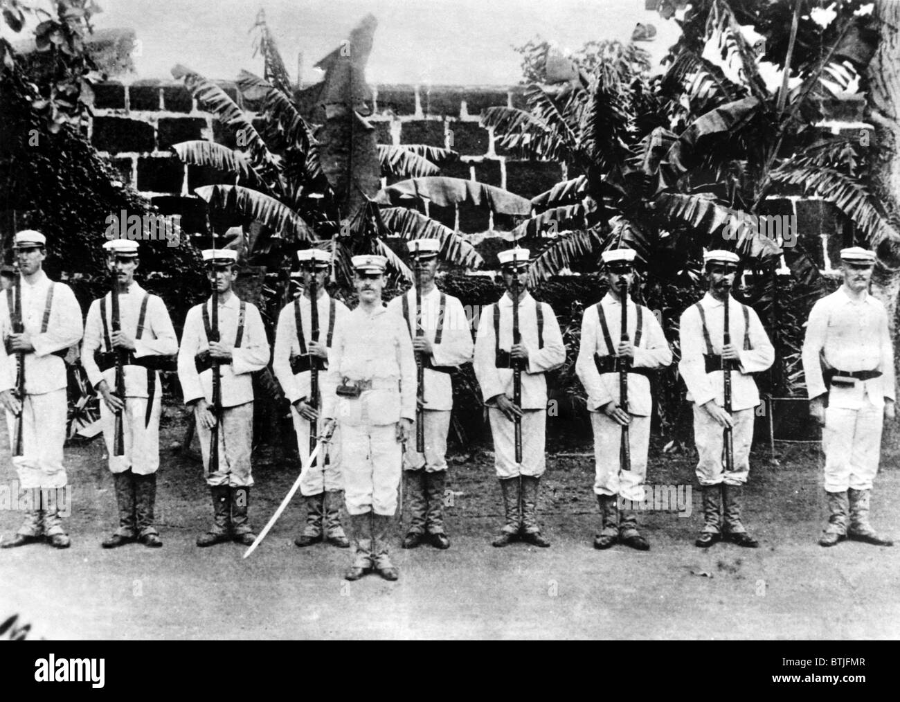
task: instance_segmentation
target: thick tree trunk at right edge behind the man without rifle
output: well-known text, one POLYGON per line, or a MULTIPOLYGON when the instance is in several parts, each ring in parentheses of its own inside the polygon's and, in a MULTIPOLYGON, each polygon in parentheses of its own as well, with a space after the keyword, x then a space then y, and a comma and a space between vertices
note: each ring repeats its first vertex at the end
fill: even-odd
MULTIPOLYGON (((869 148, 871 189, 896 226, 900 222, 900 3, 877 0, 878 49, 869 63, 869 121, 875 125, 869 148)), ((887 309, 887 321, 897 347, 897 297, 900 295, 900 254, 896 247, 878 251, 879 265, 872 279, 872 294, 887 309)), ((895 354, 895 363, 897 362, 895 354)))

